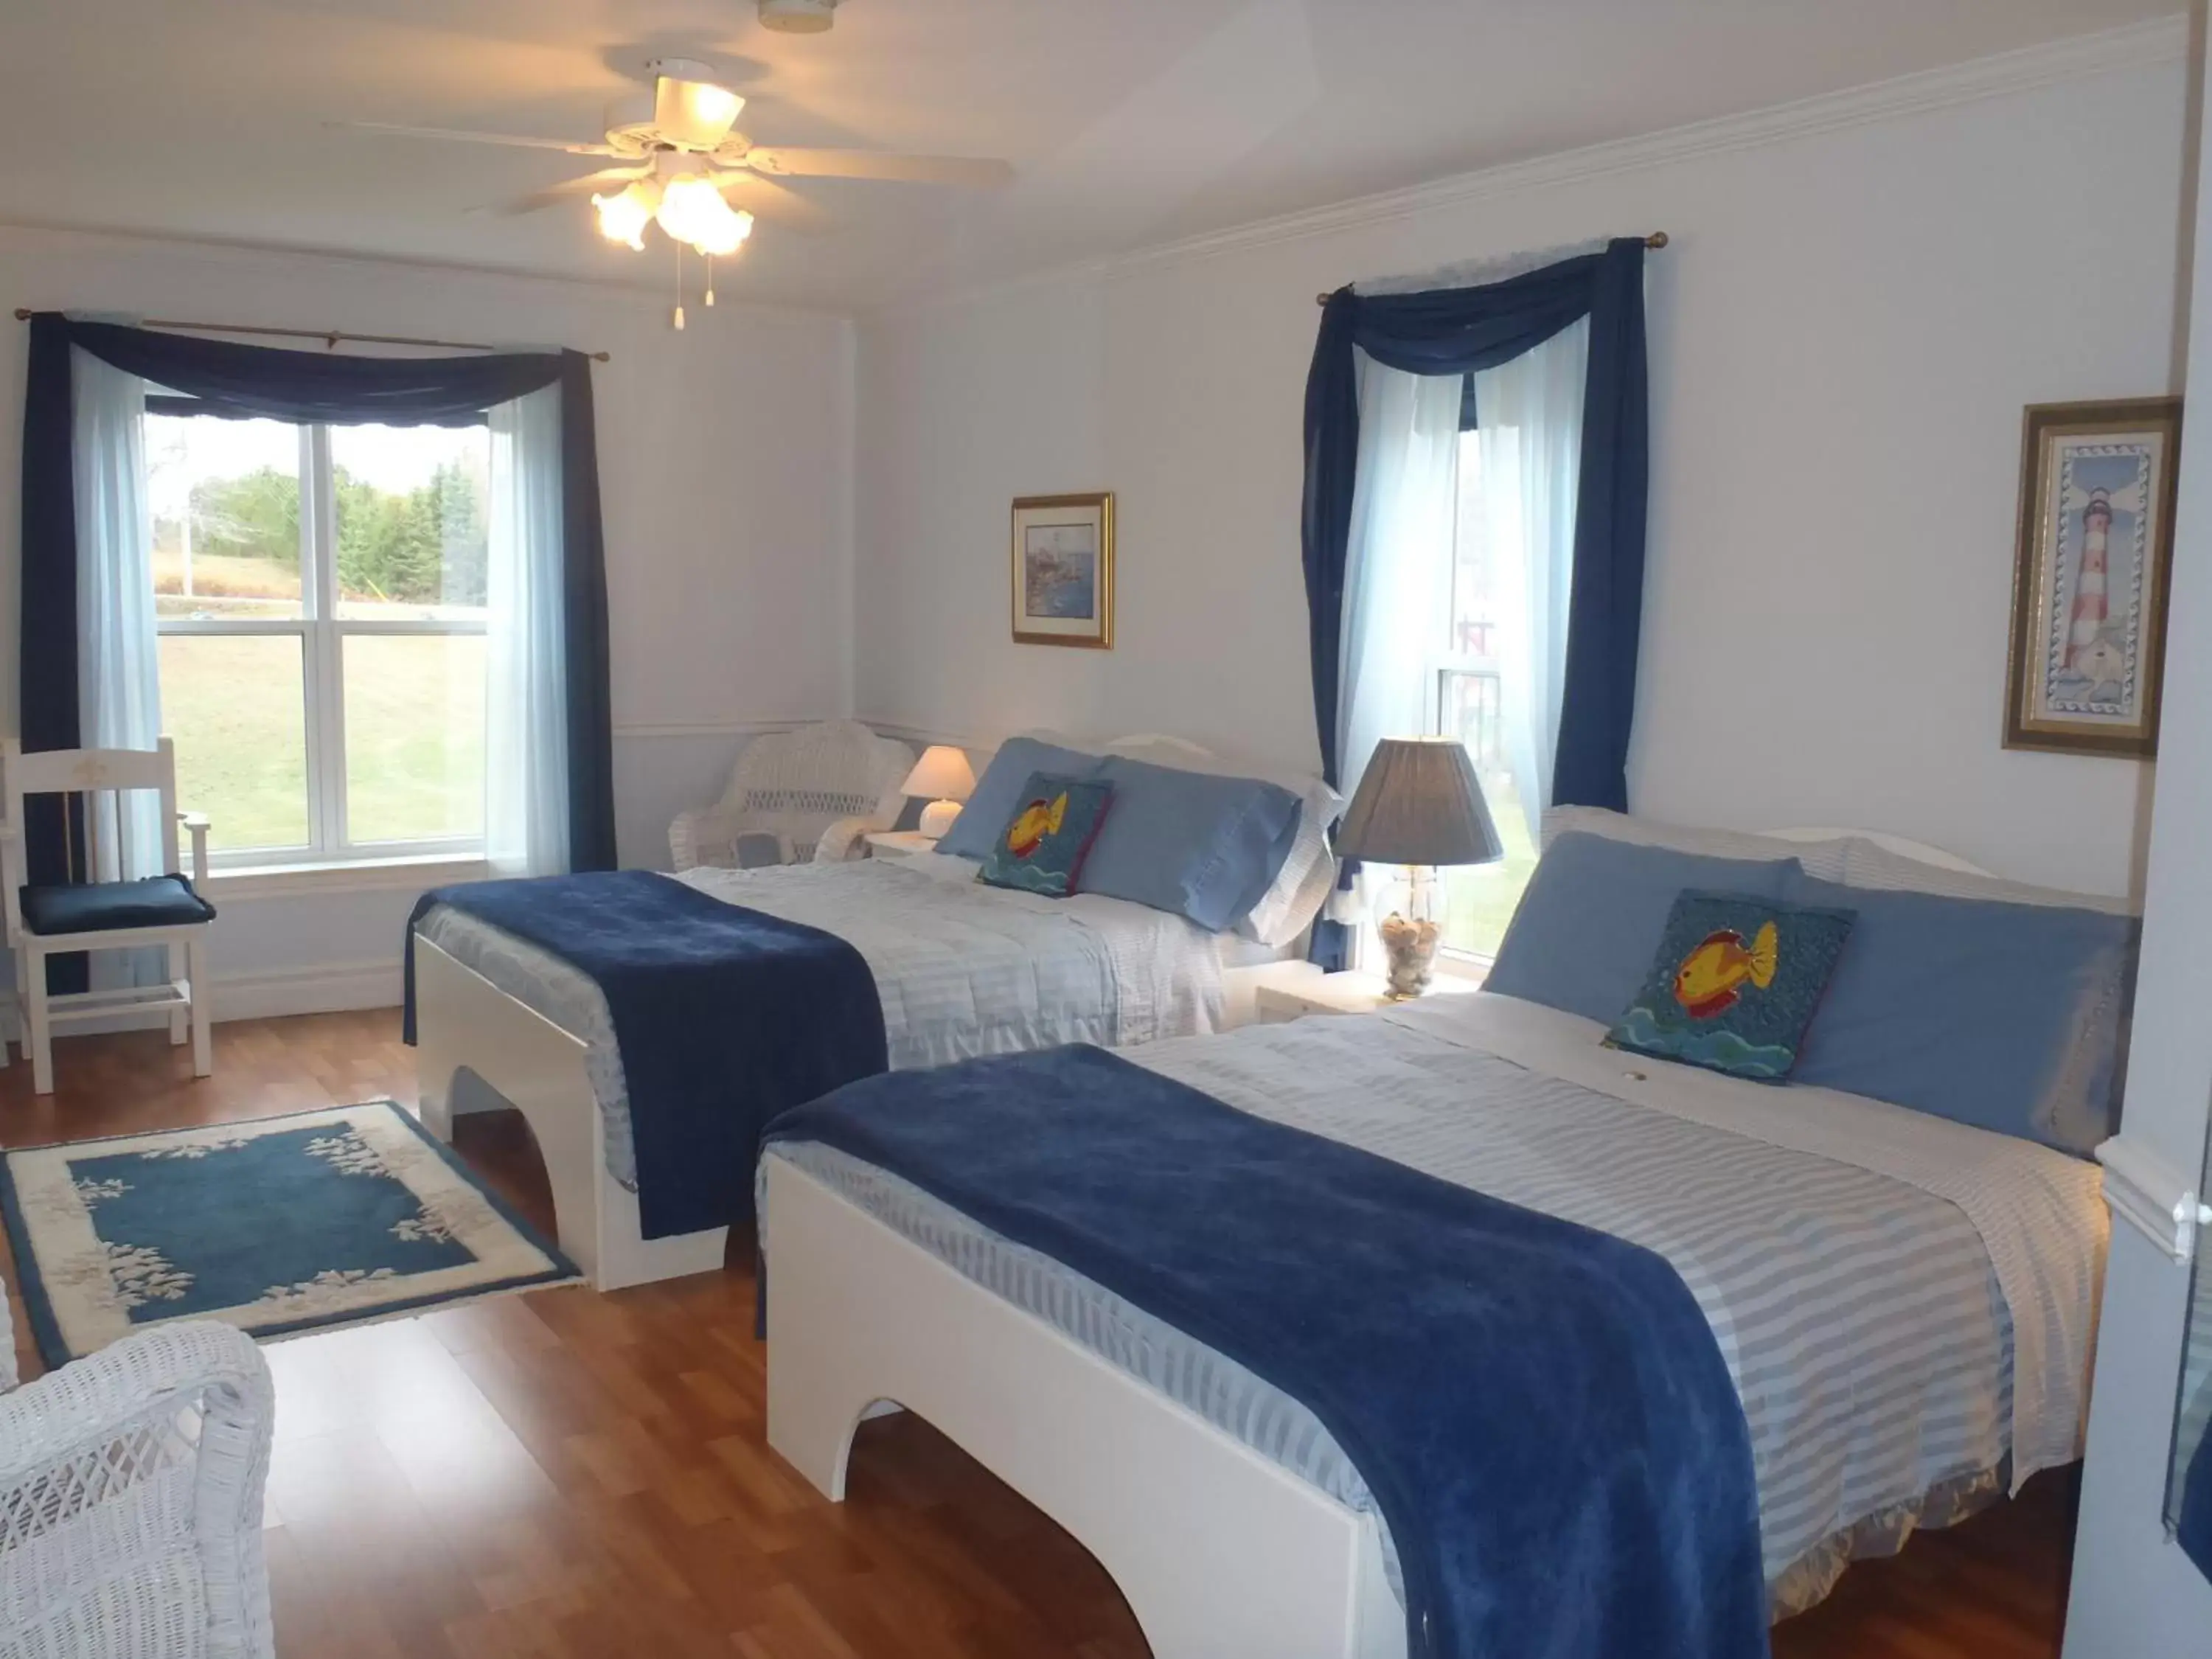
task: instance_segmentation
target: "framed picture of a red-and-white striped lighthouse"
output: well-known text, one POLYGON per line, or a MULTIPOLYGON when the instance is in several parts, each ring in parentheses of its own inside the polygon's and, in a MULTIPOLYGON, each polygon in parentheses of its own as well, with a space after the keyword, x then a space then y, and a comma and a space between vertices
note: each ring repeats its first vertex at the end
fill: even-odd
POLYGON ((2179 456, 2181 398, 2028 407, 2006 748, 2157 752, 2179 456))

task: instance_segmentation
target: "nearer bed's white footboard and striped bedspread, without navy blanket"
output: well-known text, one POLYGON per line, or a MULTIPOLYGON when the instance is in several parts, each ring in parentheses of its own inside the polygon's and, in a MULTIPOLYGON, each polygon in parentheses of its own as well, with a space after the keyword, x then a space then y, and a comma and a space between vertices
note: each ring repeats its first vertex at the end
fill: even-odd
MULTIPOLYGON (((1126 1060, 1666 1256, 1745 1407, 1772 1617, 2079 1455, 2095 1164, 1601 1033, 1482 993, 1126 1060)), ((768 1438, 821 1491, 896 1402, 1082 1540, 1161 1659, 1407 1652, 1389 1528, 1296 1398, 865 1159, 776 1144, 761 1183, 768 1438)))

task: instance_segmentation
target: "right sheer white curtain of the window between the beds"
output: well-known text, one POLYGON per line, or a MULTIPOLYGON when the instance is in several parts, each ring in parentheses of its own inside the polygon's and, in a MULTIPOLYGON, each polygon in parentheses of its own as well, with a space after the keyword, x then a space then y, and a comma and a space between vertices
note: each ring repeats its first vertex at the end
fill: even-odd
POLYGON ((1498 551, 1498 712, 1531 841, 1540 838, 1559 748, 1588 363, 1584 319, 1475 376, 1482 502, 1498 551))

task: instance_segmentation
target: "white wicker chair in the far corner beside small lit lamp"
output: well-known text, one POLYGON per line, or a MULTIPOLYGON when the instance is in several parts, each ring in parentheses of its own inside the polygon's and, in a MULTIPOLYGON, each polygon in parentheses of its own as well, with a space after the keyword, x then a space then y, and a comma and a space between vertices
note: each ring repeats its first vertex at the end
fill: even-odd
POLYGON ((898 823, 911 770, 911 748, 858 721, 763 732, 737 757, 721 801, 668 825, 668 852, 677 869, 852 858, 863 834, 898 823))

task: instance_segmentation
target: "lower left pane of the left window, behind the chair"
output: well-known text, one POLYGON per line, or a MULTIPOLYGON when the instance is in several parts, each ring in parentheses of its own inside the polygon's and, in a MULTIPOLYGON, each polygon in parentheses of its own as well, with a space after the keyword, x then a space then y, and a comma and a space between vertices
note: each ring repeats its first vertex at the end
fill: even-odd
POLYGON ((161 730, 177 805, 208 845, 307 845, 307 701, 299 635, 161 635, 161 730))

